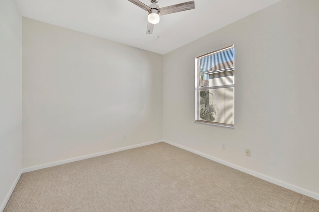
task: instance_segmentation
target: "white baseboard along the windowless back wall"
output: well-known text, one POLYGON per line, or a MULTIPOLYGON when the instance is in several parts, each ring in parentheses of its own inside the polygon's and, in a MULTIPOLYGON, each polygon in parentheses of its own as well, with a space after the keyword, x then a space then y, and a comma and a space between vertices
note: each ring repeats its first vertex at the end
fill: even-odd
POLYGON ((45 164, 41 164, 41 165, 37 165, 37 166, 26 167, 26 168, 22 169, 22 173, 35 171, 35 170, 39 170, 39 169, 44 169, 44 168, 49 168, 49 167, 52 167, 52 166, 58 166, 58 165, 66 164, 66 163, 79 161, 79 160, 85 160, 85 159, 88 159, 88 158, 98 157, 98 156, 111 154, 111 153, 115 153, 115 152, 119 152, 119 151, 124 151, 124 150, 128 150, 128 149, 133 149, 133 148, 138 148, 138 147, 142 147, 142 146, 147 146, 147 145, 151 145, 151 144, 159 143, 159 142, 162 142, 162 140, 151 141, 151 142, 146 142, 146 143, 140 143, 140 144, 137 144, 137 145, 127 146, 127 147, 113 149, 113 150, 109 150, 109 151, 98 152, 98 153, 88 154, 88 155, 84 155, 84 156, 80 156, 80 157, 73 157, 73 158, 69 158, 69 159, 66 159, 66 160, 55 161, 55 162, 52 162, 52 163, 45 163, 45 164))

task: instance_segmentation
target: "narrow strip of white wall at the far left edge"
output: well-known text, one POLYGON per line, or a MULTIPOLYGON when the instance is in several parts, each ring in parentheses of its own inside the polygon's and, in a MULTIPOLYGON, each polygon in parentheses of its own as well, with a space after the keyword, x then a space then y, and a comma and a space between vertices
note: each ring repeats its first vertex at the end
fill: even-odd
POLYGON ((0 211, 21 171, 22 16, 0 1, 0 211))

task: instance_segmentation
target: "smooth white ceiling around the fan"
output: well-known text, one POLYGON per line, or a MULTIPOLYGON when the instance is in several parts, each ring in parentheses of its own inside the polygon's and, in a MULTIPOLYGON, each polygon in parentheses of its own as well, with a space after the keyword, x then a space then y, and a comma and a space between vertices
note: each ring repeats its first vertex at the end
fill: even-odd
POLYGON ((161 16, 159 28, 156 25, 151 35, 146 35, 147 12, 127 0, 16 1, 24 17, 166 54, 280 0, 195 0, 194 10, 161 16))

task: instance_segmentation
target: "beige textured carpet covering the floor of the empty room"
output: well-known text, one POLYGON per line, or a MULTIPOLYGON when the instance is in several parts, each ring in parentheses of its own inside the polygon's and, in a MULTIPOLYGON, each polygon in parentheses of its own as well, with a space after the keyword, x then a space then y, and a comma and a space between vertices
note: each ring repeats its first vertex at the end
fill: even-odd
POLYGON ((319 212, 319 201, 166 143, 22 174, 4 212, 319 212))

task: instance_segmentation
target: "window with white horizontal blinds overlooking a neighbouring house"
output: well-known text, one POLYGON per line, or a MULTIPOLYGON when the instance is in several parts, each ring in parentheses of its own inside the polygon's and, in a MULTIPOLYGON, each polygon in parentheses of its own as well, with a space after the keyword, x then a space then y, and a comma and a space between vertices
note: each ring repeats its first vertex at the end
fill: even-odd
POLYGON ((234 45, 196 58, 195 122, 234 127, 234 45))

